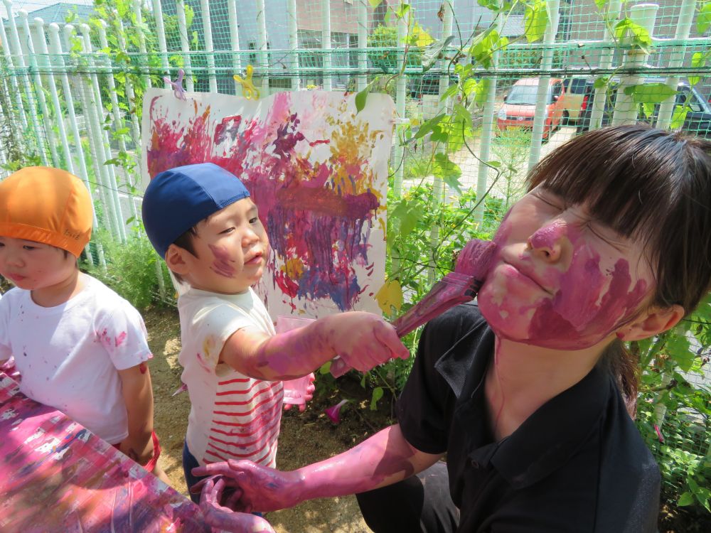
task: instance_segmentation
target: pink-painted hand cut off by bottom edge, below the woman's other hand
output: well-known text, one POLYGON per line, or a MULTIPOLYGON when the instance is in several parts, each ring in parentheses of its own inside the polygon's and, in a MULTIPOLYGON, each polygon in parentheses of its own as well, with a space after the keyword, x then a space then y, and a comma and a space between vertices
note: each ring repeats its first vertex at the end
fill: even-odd
MULTIPOLYGON (((235 533, 267 532, 274 533, 272 526, 262 517, 246 512, 233 512, 229 507, 220 505, 225 490, 224 478, 208 478, 200 495, 200 509, 205 517, 205 523, 220 531, 235 533)), ((235 491, 234 494, 239 494, 235 491)))

